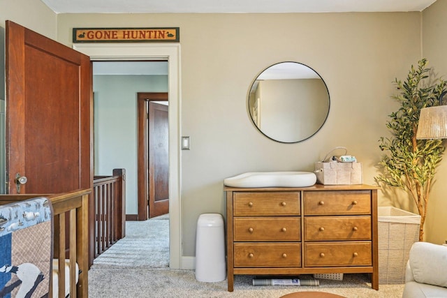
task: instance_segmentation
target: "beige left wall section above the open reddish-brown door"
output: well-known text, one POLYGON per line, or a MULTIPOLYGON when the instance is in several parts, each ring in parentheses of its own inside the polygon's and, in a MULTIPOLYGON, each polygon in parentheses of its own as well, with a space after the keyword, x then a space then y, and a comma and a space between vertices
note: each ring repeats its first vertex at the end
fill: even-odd
POLYGON ((56 40, 57 14, 39 0, 0 0, 0 27, 10 20, 56 40))

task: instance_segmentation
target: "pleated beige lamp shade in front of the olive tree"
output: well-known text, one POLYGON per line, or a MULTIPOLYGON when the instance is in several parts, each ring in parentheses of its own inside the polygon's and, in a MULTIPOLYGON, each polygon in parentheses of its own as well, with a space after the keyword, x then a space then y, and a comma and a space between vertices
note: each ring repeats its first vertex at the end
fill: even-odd
POLYGON ((447 105, 421 109, 416 139, 445 138, 447 138, 447 105))

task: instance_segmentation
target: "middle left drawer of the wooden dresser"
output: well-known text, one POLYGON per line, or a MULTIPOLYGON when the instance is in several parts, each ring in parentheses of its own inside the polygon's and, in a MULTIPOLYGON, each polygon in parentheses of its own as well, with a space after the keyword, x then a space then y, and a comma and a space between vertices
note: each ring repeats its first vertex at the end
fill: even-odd
POLYGON ((234 218, 234 241, 300 241, 300 217, 234 218))

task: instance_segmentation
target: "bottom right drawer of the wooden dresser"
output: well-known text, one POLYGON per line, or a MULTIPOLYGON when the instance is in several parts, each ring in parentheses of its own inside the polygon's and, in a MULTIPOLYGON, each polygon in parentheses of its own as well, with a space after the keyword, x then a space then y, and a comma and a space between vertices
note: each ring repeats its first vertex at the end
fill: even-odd
POLYGON ((305 244, 305 267, 372 266, 371 242, 305 244))

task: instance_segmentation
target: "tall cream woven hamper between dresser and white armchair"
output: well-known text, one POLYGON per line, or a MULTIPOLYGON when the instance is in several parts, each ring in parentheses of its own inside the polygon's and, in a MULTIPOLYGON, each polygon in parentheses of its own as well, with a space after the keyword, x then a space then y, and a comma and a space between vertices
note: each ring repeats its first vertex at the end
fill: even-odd
POLYGON ((420 216, 395 207, 378 207, 379 284, 405 283, 410 248, 419 240, 420 216))

